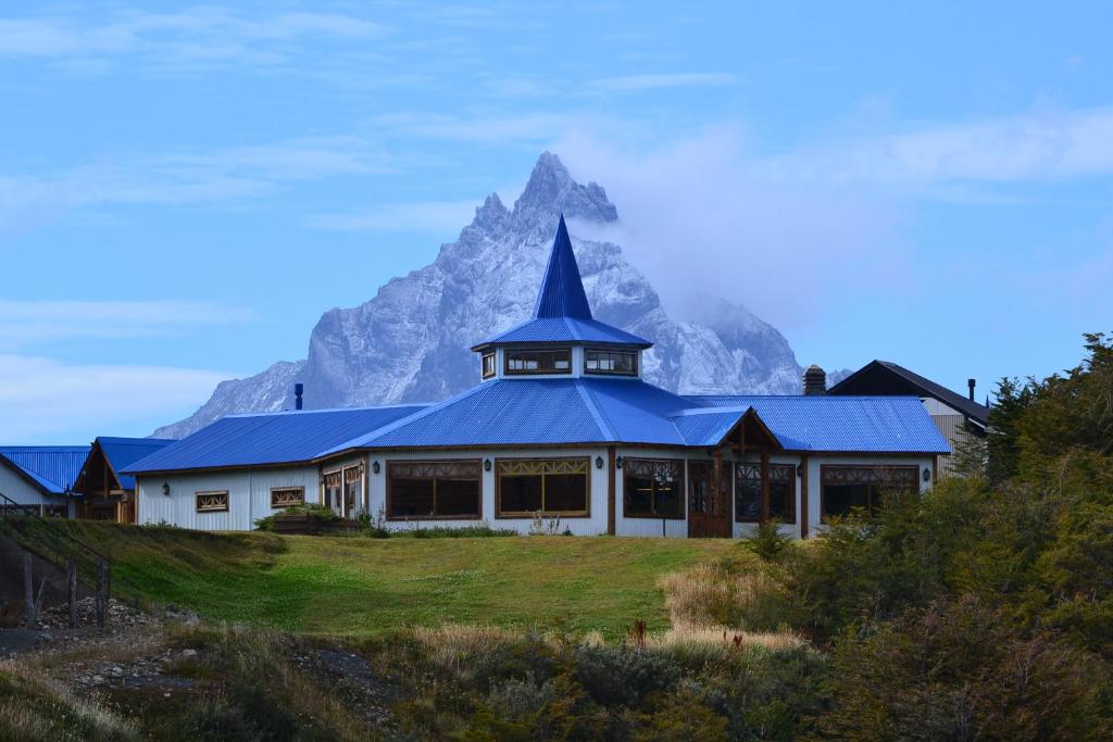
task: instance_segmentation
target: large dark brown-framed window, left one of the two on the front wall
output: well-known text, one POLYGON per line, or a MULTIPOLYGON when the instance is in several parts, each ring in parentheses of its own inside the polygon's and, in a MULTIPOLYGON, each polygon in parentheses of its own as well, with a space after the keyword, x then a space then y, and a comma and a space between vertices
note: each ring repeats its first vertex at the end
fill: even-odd
POLYGON ((387 462, 386 517, 477 518, 480 463, 387 462))

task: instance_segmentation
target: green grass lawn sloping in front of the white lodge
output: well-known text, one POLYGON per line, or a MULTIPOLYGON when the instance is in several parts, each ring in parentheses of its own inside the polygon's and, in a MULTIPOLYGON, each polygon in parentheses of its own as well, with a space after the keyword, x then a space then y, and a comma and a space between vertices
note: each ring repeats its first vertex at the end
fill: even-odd
MULTIPOLYGON (((332 538, 208 534, 71 521, 135 590, 207 619, 366 636, 441 623, 668 626, 658 577, 739 548, 728 540, 332 538)), ((125 581, 130 585, 126 585, 125 581)))

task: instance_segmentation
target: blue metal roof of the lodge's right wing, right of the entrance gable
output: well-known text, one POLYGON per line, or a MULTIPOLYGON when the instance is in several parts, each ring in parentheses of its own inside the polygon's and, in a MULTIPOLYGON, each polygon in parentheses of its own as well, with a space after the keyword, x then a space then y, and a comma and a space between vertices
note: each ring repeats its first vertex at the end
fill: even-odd
POLYGON ((752 407, 785 448, 949 454, 918 397, 693 396, 692 404, 752 407))

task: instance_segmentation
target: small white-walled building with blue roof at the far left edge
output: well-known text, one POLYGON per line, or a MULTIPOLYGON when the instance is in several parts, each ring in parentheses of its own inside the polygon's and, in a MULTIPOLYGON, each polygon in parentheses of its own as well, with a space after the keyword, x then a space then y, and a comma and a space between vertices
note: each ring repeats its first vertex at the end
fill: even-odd
POLYGON ((89 446, 0 447, 0 507, 73 517, 73 483, 89 446))

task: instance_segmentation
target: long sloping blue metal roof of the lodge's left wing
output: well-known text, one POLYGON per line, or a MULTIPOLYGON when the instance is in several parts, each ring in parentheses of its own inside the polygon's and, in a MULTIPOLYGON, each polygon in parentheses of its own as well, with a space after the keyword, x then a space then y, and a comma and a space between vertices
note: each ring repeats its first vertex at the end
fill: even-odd
POLYGON ((126 466, 127 474, 313 461, 424 405, 229 415, 126 466))

